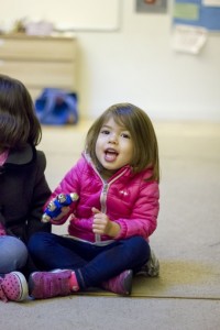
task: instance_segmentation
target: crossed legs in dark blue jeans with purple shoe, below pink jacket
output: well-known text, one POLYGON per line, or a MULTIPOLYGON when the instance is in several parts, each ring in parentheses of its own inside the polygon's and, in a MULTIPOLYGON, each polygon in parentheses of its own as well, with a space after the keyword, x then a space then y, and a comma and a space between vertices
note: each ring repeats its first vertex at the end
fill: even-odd
MULTIPOLYGON (((68 270, 32 274, 30 289, 35 298, 64 296, 70 294, 72 289, 102 286, 103 282, 111 280, 117 275, 120 275, 120 282, 127 282, 121 273, 140 268, 150 257, 148 243, 141 237, 95 246, 55 234, 38 233, 30 240, 29 249, 42 270, 68 270)), ((131 278, 130 275, 129 277, 131 278)), ((116 288, 116 279, 113 286, 116 288)), ((113 292, 124 292, 118 287, 117 284, 117 290, 113 292)))

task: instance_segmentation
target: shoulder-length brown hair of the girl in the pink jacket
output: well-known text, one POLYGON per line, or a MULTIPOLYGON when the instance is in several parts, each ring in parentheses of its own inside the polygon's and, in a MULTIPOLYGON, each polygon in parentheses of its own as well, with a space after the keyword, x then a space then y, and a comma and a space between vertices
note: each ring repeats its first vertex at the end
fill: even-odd
POLYGON ((102 125, 113 118, 116 123, 123 125, 131 134, 134 143, 132 167, 139 173, 146 167, 153 168, 150 179, 160 182, 160 161, 157 139, 148 116, 131 103, 118 103, 108 108, 91 125, 86 138, 86 148, 96 165, 96 142, 102 125))

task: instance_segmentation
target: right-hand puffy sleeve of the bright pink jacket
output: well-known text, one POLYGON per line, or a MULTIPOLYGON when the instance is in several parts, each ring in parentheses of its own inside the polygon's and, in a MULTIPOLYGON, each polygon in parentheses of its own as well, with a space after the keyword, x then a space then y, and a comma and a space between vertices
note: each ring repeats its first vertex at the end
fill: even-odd
POLYGON ((120 232, 116 239, 125 239, 133 235, 148 239, 157 227, 158 199, 160 191, 156 182, 143 185, 140 189, 140 196, 133 206, 131 217, 116 220, 120 226, 120 232))

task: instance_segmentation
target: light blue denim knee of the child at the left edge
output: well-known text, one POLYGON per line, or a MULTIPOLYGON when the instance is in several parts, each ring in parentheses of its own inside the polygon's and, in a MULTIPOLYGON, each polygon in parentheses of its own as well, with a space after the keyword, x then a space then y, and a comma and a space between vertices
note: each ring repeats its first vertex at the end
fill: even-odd
POLYGON ((0 274, 21 270, 28 260, 28 249, 25 244, 14 238, 0 237, 0 274))

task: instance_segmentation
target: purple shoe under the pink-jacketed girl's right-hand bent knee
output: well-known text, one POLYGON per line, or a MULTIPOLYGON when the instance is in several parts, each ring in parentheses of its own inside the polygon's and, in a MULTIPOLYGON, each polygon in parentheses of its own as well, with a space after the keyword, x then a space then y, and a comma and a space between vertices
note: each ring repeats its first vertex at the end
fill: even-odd
POLYGON ((133 271, 128 270, 102 283, 102 288, 118 295, 131 295, 133 271))

